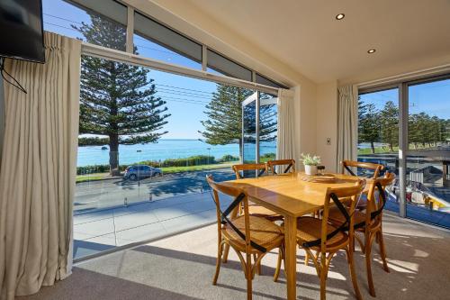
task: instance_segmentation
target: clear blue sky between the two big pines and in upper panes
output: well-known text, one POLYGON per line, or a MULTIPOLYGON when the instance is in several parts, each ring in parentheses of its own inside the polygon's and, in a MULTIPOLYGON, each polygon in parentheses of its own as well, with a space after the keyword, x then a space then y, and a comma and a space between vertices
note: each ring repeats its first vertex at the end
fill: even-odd
MULTIPOLYGON (((74 38, 83 36, 72 29, 70 24, 80 25, 90 23, 89 15, 83 10, 69 5, 62 0, 43 0, 44 29, 74 38)), ((163 48, 152 41, 134 35, 134 44, 144 57, 159 59, 188 68, 202 69, 202 65, 163 48)), ((217 72, 208 70, 210 72, 217 72)), ((154 79, 157 86, 157 96, 166 101, 170 117, 163 131, 168 131, 164 139, 199 139, 203 127, 200 121, 206 120, 203 113, 205 105, 211 101, 211 93, 216 90, 216 84, 210 81, 182 77, 157 70, 150 70, 148 77, 154 79)))

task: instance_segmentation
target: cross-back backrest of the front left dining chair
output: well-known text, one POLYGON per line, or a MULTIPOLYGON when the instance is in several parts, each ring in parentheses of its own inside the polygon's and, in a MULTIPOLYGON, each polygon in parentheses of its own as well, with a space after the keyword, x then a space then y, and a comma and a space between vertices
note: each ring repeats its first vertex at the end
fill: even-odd
POLYGON ((230 186, 229 184, 224 183, 217 183, 214 182, 211 175, 206 176, 206 181, 211 186, 212 194, 214 203, 216 204, 216 215, 217 215, 217 226, 218 226, 218 234, 219 239, 221 239, 221 226, 225 224, 229 224, 229 226, 238 233, 238 236, 246 242, 246 252, 250 253, 251 248, 255 248, 261 252, 266 252, 266 249, 260 245, 258 245, 256 242, 251 241, 250 236, 250 219, 248 214, 248 196, 247 193, 236 186, 230 186), (220 208, 220 197, 219 193, 230 195, 234 197, 233 201, 225 209, 225 211, 222 212, 220 208), (243 206, 243 214, 244 214, 244 223, 245 223, 245 231, 241 232, 233 223, 233 220, 230 220, 228 215, 238 207, 238 205, 243 206))

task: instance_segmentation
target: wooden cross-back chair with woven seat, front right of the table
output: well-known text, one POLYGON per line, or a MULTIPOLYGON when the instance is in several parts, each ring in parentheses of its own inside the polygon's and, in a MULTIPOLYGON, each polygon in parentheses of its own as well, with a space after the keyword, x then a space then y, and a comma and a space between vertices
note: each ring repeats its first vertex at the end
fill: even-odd
MULTIPOLYGON (((365 187, 365 180, 358 180, 355 186, 329 188, 325 195, 322 218, 301 217, 297 220, 297 243, 306 251, 312 259, 317 274, 320 277, 320 299, 326 297, 326 283, 329 272, 329 265, 333 255, 338 250, 345 250, 347 253, 348 268, 352 278, 353 287, 357 299, 361 299, 354 262, 353 230, 354 217, 356 212, 356 202, 365 187), (343 205, 339 198, 351 198, 352 204, 348 207, 343 205), (338 227, 329 223, 329 209, 331 201, 338 207, 340 214, 344 216, 346 222, 338 227), (346 232, 346 230, 348 232, 346 232), (316 251, 314 254, 312 251, 316 251)), ((279 259, 277 268, 280 268, 279 259)), ((276 278, 275 278, 276 279, 276 278)))

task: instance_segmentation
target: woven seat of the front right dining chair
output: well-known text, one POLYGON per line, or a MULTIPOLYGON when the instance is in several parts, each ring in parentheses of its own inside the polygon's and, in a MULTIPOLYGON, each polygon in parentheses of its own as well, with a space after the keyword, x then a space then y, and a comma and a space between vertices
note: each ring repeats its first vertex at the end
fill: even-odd
MULTIPOLYGON (((336 230, 332 224, 327 226, 327 234, 336 230)), ((321 238, 322 220, 313 217, 301 217, 297 219, 297 242, 302 246, 303 243, 316 241, 321 238)), ((340 248, 348 241, 348 235, 344 232, 338 232, 335 236, 327 241, 327 250, 340 248)), ((312 249, 320 249, 319 246, 311 247, 312 249)))

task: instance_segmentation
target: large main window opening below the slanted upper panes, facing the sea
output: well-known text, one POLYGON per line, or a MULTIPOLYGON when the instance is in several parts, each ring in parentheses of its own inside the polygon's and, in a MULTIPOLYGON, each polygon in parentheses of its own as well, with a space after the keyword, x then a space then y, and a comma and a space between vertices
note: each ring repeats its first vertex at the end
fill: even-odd
MULTIPOLYGON (((76 258, 214 222, 204 178, 234 178, 243 103, 257 93, 86 56, 81 79, 76 258)), ((261 101, 272 105, 261 153, 275 155, 274 102, 261 101)))

